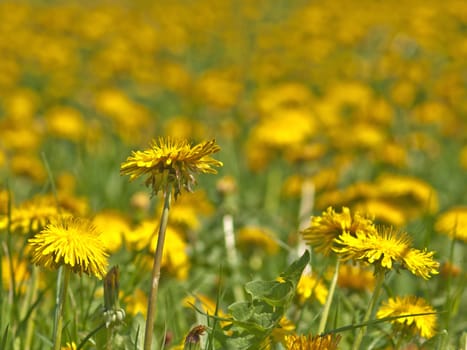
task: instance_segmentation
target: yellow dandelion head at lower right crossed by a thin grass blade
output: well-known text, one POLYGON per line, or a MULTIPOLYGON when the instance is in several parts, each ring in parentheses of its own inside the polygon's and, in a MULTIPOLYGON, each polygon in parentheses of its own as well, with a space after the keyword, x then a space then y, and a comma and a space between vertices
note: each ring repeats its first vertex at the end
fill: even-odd
POLYGON ((436 331, 435 310, 424 299, 415 296, 395 297, 383 302, 378 312, 377 318, 404 316, 390 321, 393 325, 403 327, 409 331, 419 334, 423 338, 432 338, 436 331), (433 313, 431 315, 417 315, 423 313, 433 313))

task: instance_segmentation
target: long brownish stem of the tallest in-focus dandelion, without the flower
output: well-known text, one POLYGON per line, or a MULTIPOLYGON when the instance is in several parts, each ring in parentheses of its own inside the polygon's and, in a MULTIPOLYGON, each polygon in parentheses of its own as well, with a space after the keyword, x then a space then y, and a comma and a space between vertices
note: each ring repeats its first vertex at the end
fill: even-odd
POLYGON ((170 201, 172 198, 172 187, 167 185, 164 193, 164 208, 162 209, 161 222, 159 226, 159 234, 157 236, 156 252, 154 253, 154 265, 152 269, 151 289, 148 299, 148 312, 146 319, 146 329, 144 333, 144 350, 151 350, 152 336, 154 332, 154 321, 156 314, 157 291, 159 289, 159 279, 161 276, 162 253, 164 251, 165 231, 169 220, 170 201))

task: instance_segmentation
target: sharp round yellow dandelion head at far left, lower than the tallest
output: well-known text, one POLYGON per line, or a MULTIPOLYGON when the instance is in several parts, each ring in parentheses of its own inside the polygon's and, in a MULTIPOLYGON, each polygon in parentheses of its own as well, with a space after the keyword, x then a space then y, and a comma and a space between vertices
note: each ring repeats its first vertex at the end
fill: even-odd
POLYGON ((105 276, 107 253, 96 228, 85 219, 64 218, 48 224, 28 240, 32 262, 46 268, 65 265, 75 273, 105 276))

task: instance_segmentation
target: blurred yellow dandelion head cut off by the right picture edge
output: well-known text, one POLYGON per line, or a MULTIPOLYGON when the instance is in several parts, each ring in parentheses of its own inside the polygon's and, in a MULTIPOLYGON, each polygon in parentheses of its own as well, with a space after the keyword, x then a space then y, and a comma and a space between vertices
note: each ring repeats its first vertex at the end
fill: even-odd
POLYGON ((436 220, 435 230, 467 242, 467 207, 454 207, 441 214, 436 220))

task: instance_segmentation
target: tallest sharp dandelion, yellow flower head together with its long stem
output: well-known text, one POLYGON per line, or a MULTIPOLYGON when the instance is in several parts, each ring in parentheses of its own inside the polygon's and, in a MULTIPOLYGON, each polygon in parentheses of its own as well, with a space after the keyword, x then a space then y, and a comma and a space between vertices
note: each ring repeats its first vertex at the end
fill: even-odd
POLYGON ((157 290, 172 191, 177 199, 182 188, 189 192, 193 190, 193 186, 196 184, 195 175, 198 173, 217 173, 213 167, 222 166, 222 162, 212 158, 211 154, 219 150, 220 147, 215 140, 204 141, 192 147, 186 140, 161 137, 158 141, 153 140, 149 149, 134 151, 120 167, 120 174, 129 175, 130 181, 140 176, 147 176, 146 186, 150 186, 155 195, 162 191, 165 197, 154 253, 144 336, 145 350, 150 350, 152 346, 157 290))

